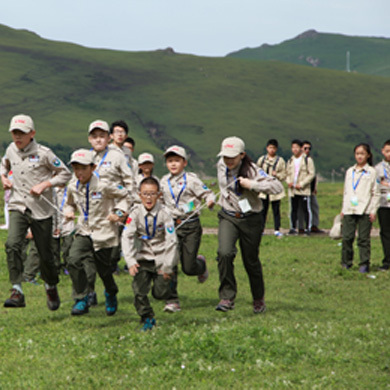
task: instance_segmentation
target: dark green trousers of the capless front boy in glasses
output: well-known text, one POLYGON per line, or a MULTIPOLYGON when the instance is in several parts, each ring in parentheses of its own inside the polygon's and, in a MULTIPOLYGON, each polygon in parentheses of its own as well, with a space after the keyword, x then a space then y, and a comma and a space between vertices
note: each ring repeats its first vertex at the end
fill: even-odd
POLYGON ((150 306, 148 294, 153 282, 152 295, 155 299, 168 299, 171 294, 171 281, 164 280, 158 274, 156 264, 151 260, 138 261, 138 273, 133 279, 134 306, 142 320, 153 318, 154 311, 150 306))

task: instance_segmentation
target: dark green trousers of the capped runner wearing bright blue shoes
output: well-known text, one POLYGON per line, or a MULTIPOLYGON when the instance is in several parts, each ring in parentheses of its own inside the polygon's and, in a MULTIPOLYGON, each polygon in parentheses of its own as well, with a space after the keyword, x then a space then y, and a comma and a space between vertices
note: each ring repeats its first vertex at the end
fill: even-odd
POLYGON ((68 271, 73 283, 74 299, 82 299, 90 292, 85 272, 86 262, 95 264, 106 291, 110 295, 117 294, 118 286, 111 272, 111 252, 112 248, 95 251, 90 237, 76 235, 68 257, 68 271))

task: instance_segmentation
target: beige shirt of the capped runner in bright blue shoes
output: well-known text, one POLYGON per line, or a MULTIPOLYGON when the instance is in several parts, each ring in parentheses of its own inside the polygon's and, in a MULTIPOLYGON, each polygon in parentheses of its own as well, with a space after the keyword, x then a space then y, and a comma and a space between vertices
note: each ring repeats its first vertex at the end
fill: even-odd
POLYGON ((130 202, 130 195, 123 186, 92 175, 89 188, 77 179, 69 183, 64 212, 79 211, 77 234, 90 236, 94 249, 98 251, 118 245, 118 225, 107 217, 115 210, 127 212, 130 202))

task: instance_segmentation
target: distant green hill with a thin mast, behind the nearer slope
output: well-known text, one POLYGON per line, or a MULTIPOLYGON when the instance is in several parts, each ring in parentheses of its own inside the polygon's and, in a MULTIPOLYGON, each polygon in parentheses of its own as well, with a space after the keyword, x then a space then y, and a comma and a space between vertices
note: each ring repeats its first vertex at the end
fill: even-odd
POLYGON ((390 39, 324 34, 309 30, 278 45, 264 44, 228 54, 250 60, 277 60, 298 65, 390 76, 390 39))

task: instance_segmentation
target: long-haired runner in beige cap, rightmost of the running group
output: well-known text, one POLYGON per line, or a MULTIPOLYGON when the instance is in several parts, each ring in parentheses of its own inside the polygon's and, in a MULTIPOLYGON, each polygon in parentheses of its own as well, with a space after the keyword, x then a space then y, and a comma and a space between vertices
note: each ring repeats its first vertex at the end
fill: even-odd
POLYGON ((244 142, 237 137, 225 138, 218 154, 218 182, 221 190, 218 213, 219 311, 234 309, 237 283, 234 258, 239 240, 242 259, 249 277, 254 313, 265 311, 263 272, 259 245, 264 228, 259 193, 278 194, 283 185, 272 176, 261 176, 257 166, 245 153, 244 142))

